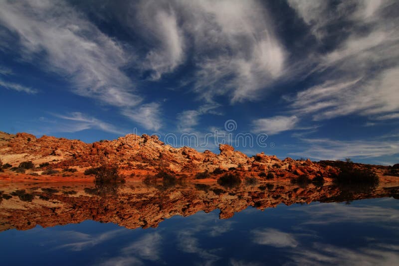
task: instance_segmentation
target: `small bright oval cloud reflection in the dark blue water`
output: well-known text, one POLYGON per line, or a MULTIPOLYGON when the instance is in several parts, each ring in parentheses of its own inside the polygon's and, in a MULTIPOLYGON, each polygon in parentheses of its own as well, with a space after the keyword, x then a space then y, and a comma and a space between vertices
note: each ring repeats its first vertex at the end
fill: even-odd
POLYGON ((273 246, 276 248, 295 248, 298 242, 292 234, 284 233, 273 228, 252 230, 252 242, 259 245, 273 246))

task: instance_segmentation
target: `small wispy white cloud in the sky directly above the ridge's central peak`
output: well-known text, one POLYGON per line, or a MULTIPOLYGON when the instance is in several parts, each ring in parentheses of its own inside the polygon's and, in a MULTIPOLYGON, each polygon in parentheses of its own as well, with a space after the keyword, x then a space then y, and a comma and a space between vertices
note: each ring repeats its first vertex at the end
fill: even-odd
POLYGON ((135 109, 126 109, 122 114, 142 125, 147 130, 159 130, 162 127, 160 104, 150 103, 135 109))

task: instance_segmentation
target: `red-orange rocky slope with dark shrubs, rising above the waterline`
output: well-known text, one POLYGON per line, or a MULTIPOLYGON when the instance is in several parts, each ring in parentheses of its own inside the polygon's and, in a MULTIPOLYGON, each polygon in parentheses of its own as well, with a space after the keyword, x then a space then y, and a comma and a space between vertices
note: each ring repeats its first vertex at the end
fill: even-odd
MULTIPOLYGON (((157 136, 128 134, 115 140, 103 140, 85 143, 76 139, 42 136, 36 138, 32 134, 17 133, 0 134, 0 159, 2 163, 18 166, 23 161, 32 161, 35 168, 28 169, 25 174, 18 174, 19 179, 59 180, 61 174, 52 177, 42 175, 45 169, 74 168, 77 171, 63 173, 63 178, 85 178, 83 171, 89 167, 107 163, 118 166, 121 173, 130 178, 142 180, 148 175, 161 171, 176 175, 187 175, 195 178, 200 172, 212 173, 215 169, 234 171, 238 176, 253 176, 265 179, 272 173, 275 179, 291 179, 307 175, 311 179, 323 176, 329 180, 339 169, 329 163, 317 163, 308 160, 280 160, 276 156, 258 153, 248 157, 232 146, 220 144, 220 153, 209 150, 199 152, 190 147, 175 148, 164 144, 157 136), (40 164, 45 163, 45 165, 40 164), (34 174, 36 176, 32 176, 34 174)), ((372 169, 383 174, 384 166, 372 166, 372 169)), ((217 171, 216 171, 217 172, 217 171)), ((221 171, 218 171, 221 172, 221 171)), ((9 168, 0 173, 0 179, 9 179, 16 175, 9 168)), ((14 177, 14 181, 18 179, 14 177), (15 179, 16 178, 16 179, 15 179)), ((87 177, 86 177, 87 178, 87 177)), ((217 174, 208 178, 216 179, 217 174)), ((66 180, 66 179, 62 179, 66 180)))

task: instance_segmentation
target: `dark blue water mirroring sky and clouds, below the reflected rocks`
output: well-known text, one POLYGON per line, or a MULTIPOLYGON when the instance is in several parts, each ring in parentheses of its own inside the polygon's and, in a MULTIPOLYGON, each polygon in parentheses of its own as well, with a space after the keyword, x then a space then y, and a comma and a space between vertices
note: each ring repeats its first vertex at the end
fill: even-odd
POLYGON ((215 209, 147 229, 92 220, 9 229, 1 265, 399 265, 398 202, 249 206, 229 219, 215 209))

